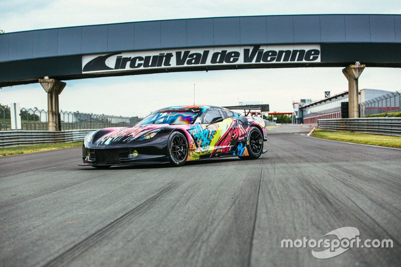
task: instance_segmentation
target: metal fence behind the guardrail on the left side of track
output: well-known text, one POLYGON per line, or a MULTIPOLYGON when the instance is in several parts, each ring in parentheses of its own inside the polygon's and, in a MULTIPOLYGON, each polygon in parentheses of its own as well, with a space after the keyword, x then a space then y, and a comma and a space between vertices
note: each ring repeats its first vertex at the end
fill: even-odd
MULTIPOLYGON (((48 113, 44 109, 22 108, 21 130, 46 131, 48 124, 48 113)), ((104 114, 80 113, 60 111, 60 127, 62 131, 75 129, 100 129, 107 127, 133 126, 140 118, 112 116, 104 114)), ((11 130, 10 107, 0 105, 0 131, 11 130)))

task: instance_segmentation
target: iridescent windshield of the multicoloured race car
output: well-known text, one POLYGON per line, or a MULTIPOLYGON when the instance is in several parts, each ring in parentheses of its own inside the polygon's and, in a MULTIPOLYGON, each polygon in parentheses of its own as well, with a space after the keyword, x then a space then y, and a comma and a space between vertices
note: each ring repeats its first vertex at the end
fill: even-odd
POLYGON ((160 112, 152 113, 137 125, 144 124, 192 124, 199 113, 194 112, 160 112))

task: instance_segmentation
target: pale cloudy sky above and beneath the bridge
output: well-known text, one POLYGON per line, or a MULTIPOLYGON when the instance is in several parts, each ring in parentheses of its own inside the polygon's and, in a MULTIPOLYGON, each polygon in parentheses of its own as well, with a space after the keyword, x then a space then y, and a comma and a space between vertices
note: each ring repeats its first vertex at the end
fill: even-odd
MULTIPOLYGON (((6 33, 123 22, 259 15, 401 14, 401 3, 318 0, 0 0, 0 30, 6 33)), ((320 100, 348 90, 342 68, 249 69, 177 72, 66 81, 62 111, 143 117, 173 105, 238 105, 263 102, 271 111, 292 111, 292 102, 320 100), (195 88, 195 90, 193 90, 195 88), (193 93, 195 91, 195 93, 193 93)), ((401 91, 401 69, 366 68, 359 89, 401 91)), ((0 104, 47 109, 40 84, 0 89, 0 104)))

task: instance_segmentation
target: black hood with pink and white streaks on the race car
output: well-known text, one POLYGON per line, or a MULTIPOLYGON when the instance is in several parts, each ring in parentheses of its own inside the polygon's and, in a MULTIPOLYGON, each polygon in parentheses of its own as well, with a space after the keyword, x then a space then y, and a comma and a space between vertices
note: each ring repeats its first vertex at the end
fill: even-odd
POLYGON ((168 126, 168 124, 148 124, 100 129, 94 133, 90 143, 94 146, 122 145, 134 141, 149 132, 168 126))

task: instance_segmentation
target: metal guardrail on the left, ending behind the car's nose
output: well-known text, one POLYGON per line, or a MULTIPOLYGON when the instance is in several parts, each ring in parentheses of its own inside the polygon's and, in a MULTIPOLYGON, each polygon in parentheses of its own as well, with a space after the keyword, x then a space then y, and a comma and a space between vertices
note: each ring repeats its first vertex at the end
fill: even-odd
POLYGON ((43 145, 83 141, 93 129, 71 131, 1 131, 0 147, 43 145))

